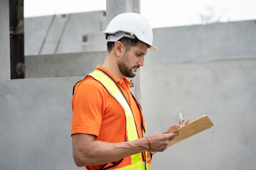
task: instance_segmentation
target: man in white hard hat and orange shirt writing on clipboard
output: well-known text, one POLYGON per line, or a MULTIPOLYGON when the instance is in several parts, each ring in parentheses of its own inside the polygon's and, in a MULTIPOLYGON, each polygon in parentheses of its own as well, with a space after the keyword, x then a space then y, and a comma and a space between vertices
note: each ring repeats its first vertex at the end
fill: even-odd
MULTIPOLYGON (((116 16, 103 32, 107 57, 102 66, 74 86, 72 140, 77 166, 85 169, 149 169, 151 152, 162 152, 178 135, 180 122, 161 134, 146 132, 142 108, 130 93, 137 69, 144 65, 153 33, 137 13, 116 16)), ((183 120, 183 125, 188 123, 183 120)))

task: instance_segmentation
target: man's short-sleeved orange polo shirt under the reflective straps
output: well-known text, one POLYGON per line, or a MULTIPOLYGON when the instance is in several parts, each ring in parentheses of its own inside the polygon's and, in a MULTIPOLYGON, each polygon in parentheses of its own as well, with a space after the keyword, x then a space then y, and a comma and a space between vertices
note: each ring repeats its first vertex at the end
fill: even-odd
MULTIPOLYGON (((97 69, 105 71, 120 86, 132 108, 139 137, 143 137, 142 125, 144 125, 144 118, 140 113, 137 102, 130 93, 132 83, 126 77, 123 80, 118 79, 114 74, 100 65, 97 66, 97 69)), ((99 81, 88 76, 80 82, 80 86, 75 88, 72 109, 71 135, 85 133, 95 135, 95 140, 105 142, 126 141, 124 111, 99 81)))

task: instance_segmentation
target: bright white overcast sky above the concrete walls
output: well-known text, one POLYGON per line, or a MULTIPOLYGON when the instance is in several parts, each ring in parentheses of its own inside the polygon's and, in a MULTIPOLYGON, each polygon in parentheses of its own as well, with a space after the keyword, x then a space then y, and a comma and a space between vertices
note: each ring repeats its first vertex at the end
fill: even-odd
MULTIPOLYGON (((24 17, 100 11, 105 0, 24 0, 24 17)), ((256 0, 141 0, 141 13, 153 28, 256 19, 256 0), (220 18, 220 19, 218 19, 220 18)))

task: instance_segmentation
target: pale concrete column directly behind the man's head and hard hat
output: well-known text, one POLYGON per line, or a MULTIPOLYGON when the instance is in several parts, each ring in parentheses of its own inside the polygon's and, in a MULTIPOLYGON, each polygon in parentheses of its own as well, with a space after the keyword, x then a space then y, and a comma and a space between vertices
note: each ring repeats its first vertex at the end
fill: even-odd
MULTIPOLYGON (((140 0, 107 0, 107 23, 109 23, 114 16, 125 12, 140 13, 140 0)), ((138 71, 136 77, 132 79, 133 85, 131 88, 132 94, 141 103, 142 94, 140 88, 140 72, 138 71)))

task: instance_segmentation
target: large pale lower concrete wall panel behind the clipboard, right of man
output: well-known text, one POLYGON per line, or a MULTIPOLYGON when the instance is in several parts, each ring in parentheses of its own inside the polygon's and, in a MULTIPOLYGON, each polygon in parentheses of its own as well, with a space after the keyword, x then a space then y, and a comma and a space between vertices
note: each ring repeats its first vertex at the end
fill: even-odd
POLYGON ((148 64, 141 70, 147 135, 178 113, 213 128, 153 156, 152 169, 255 169, 256 60, 148 64))

